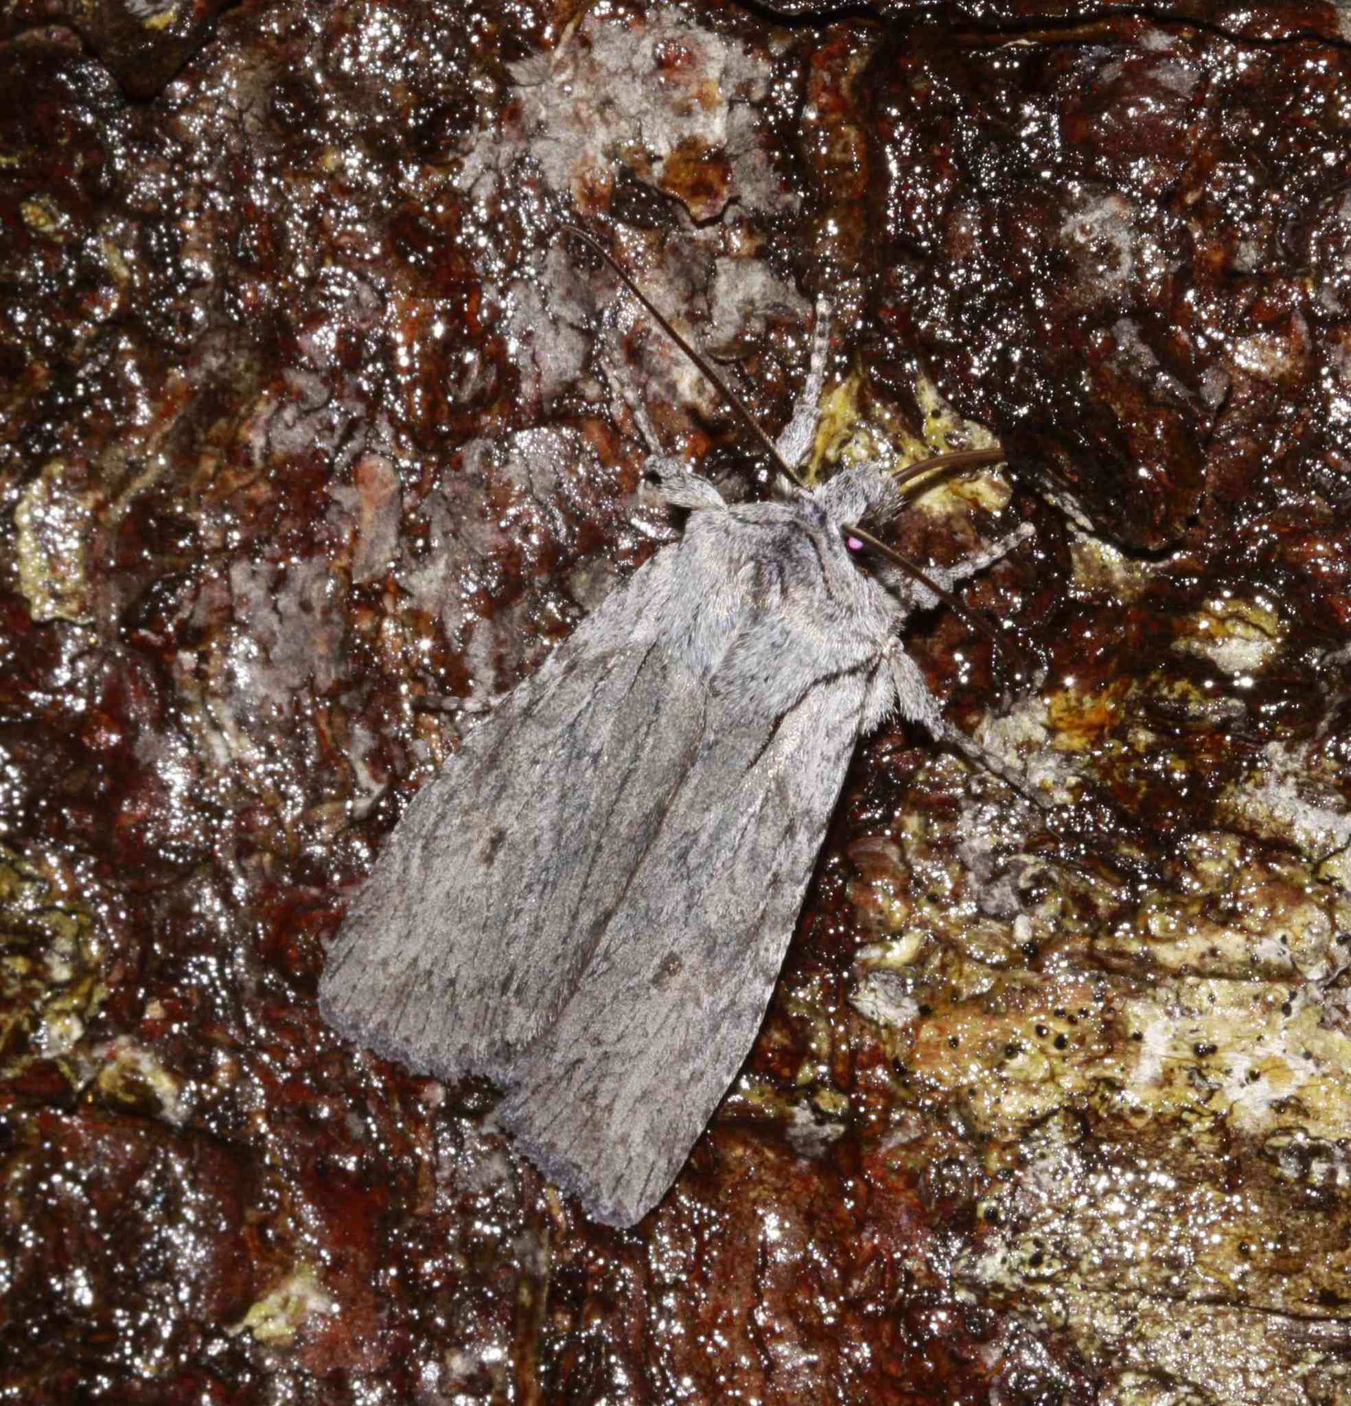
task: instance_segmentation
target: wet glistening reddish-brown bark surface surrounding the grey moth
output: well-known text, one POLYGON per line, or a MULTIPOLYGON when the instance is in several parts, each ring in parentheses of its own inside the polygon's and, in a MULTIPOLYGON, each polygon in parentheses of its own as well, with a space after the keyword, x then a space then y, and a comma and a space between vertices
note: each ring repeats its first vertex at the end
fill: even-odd
POLYGON ((1343 1399, 1343 28, 4 10, 0 1399, 1343 1399), (870 740, 630 1233, 315 1010, 474 709, 679 530, 621 389, 763 492, 560 219, 772 430, 828 295, 814 472, 998 439, 912 555, 1035 526, 997 654, 908 647, 1052 808, 870 740))

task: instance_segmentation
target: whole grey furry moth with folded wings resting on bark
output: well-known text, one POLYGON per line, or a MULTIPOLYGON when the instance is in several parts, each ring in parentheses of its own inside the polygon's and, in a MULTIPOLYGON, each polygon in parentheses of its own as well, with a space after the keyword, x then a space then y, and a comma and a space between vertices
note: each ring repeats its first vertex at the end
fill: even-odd
MULTIPOLYGON (((794 467, 815 401, 763 436, 794 467)), ((419 790, 319 987, 357 1043, 493 1078, 517 1144, 620 1226, 665 1194, 749 1052, 859 738, 900 713, 984 756, 900 630, 1030 530, 915 581, 859 531, 903 506, 879 465, 728 505, 649 449, 682 538, 419 790)))

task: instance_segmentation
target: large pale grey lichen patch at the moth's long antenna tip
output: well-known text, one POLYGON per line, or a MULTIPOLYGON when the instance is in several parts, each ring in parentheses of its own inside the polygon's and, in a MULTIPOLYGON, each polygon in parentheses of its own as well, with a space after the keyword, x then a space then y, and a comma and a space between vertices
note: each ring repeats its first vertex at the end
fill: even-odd
MULTIPOLYGON (((543 260, 543 278, 503 260, 499 226, 479 221, 498 201, 517 200, 523 181, 551 205, 569 201, 569 218, 617 215, 609 238, 624 263, 696 340, 727 344, 737 356, 762 340, 766 314, 777 323, 806 322, 794 281, 758 257, 765 222, 800 204, 766 142, 765 110, 776 96, 763 45, 683 13, 630 13, 614 22, 583 7, 551 52, 508 69, 510 118, 492 115, 455 183, 467 198, 465 243, 492 280, 485 291, 500 305, 524 404, 548 405, 586 368, 593 337, 583 318, 595 311, 597 290, 595 280, 578 280, 576 249, 564 243, 543 260), (686 240, 680 260, 662 253, 672 231, 686 240)), ((554 205, 533 214, 551 228, 560 212, 554 205)), ((627 336, 634 325, 627 298, 613 316, 627 336)), ((658 423, 668 404, 723 413, 699 371, 664 339, 652 339, 641 357, 658 382, 640 388, 658 423)))

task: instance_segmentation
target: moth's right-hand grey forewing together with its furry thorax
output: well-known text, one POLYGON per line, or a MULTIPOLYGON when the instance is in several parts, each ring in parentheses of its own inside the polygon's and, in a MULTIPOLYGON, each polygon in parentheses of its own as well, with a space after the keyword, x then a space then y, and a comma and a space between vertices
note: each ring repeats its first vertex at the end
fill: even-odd
POLYGON ((529 1154, 614 1225, 662 1197, 745 1060, 849 759, 894 699, 890 609, 834 530, 814 502, 759 505, 692 523, 675 548, 692 585, 714 586, 703 609, 758 555, 779 598, 739 602, 706 661, 694 762, 655 844, 621 856, 626 901, 502 1107, 529 1154))

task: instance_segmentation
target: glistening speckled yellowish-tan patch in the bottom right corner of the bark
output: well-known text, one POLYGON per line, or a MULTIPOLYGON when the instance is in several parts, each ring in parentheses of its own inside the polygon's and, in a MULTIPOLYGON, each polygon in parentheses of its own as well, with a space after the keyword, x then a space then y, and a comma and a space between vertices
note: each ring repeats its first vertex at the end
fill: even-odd
POLYGON ((1094 1112, 1028 1130, 1019 1174, 983 1202, 988 1233, 959 1275, 1038 1303, 1090 1354, 1106 1337, 1118 1365, 1195 1374, 1226 1402, 1321 1399, 1247 1372, 1264 1362, 1303 1375, 1336 1361, 1348 1211, 1329 1194, 1327 1144, 1236 1144, 1223 1116, 1201 1111, 1153 1122, 1122 1121, 1106 1102, 1094 1112), (1321 1189, 1291 1216, 1291 1174, 1305 1167, 1319 1168, 1321 1189), (1133 1337, 1151 1303, 1167 1305, 1181 1331, 1133 1337), (1226 1334, 1227 1364, 1187 1348, 1208 1323, 1226 1334))

